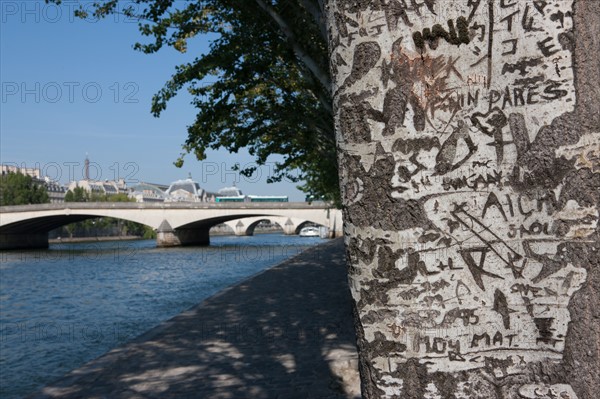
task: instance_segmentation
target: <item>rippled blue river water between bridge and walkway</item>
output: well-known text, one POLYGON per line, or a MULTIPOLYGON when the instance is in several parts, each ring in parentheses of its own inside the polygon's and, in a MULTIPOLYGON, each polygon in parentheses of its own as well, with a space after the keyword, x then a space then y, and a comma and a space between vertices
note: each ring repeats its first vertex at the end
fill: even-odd
POLYGON ((0 397, 20 398, 320 238, 211 237, 0 252, 0 397))

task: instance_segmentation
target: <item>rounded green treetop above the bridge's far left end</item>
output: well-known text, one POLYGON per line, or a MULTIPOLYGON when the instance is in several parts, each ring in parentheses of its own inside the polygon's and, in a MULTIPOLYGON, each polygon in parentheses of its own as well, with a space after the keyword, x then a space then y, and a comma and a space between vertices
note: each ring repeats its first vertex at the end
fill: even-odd
POLYGON ((0 206, 44 204, 50 202, 48 191, 31 176, 7 173, 0 177, 0 206))

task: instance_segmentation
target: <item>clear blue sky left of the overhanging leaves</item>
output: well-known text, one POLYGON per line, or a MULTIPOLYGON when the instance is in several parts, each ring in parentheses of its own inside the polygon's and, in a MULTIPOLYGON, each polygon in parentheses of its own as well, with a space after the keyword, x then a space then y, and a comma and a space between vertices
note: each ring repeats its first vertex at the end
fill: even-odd
POLYGON ((269 166, 253 178, 232 172, 235 163, 253 162, 245 152, 211 151, 203 162, 188 155, 183 168, 173 165, 195 116, 191 97, 182 91, 160 118, 150 114, 150 101, 176 65, 207 51, 208 38, 190 43, 186 54, 143 54, 132 48, 149 40, 136 21, 80 20, 72 15, 77 3, 91 4, 0 1, 1 163, 38 166, 65 183, 82 178, 87 153, 92 178, 169 183, 191 173, 208 190, 236 180, 247 194, 303 200, 294 183, 267 184, 269 166))

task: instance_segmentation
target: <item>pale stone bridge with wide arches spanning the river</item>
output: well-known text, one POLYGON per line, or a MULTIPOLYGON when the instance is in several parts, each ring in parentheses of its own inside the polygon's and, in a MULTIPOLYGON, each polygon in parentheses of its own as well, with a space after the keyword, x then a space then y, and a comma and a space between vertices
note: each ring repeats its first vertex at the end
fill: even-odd
POLYGON ((286 234, 311 222, 341 235, 341 211, 329 204, 285 203, 161 203, 70 202, 0 207, 0 249, 46 248, 48 232, 98 217, 112 217, 150 226, 161 247, 208 245, 209 230, 228 224, 236 235, 251 235, 262 220, 279 224, 286 234))

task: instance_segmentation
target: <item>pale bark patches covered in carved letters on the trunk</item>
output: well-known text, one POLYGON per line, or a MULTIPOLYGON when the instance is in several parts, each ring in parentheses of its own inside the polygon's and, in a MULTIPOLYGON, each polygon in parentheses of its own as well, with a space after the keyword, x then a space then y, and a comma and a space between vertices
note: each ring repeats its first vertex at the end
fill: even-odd
MULTIPOLYGON (((370 254, 352 260, 361 270, 351 275, 353 297, 366 347, 402 348, 372 353, 379 388, 389 395, 408 389, 399 371, 407 364, 504 378, 560 361, 569 301, 587 277, 569 243, 585 242, 599 215, 561 194, 562 176, 536 190, 519 181, 541 129, 576 103, 563 40, 573 28, 573 0, 363 3, 349 13, 344 1, 332 2, 352 21, 336 19, 341 36, 377 32, 338 45, 332 59, 343 60, 334 101, 343 111, 336 120, 342 159, 352 160, 342 161, 352 198, 346 234, 370 254), (377 166, 383 159, 385 173, 377 166), (354 223, 379 215, 374 198, 390 221, 354 223), (389 228, 406 219, 422 223, 389 228), (386 292, 377 296, 377 289, 386 292)), ((600 173, 600 134, 555 155, 600 173)), ((521 395, 537 388, 524 385, 521 395)), ((568 385, 548 389, 555 388, 575 398, 568 385)), ((465 389, 459 383, 457 397, 465 389)))

